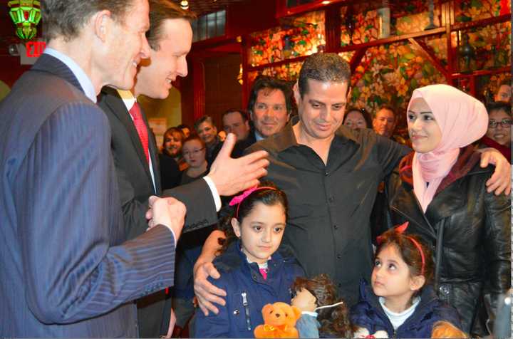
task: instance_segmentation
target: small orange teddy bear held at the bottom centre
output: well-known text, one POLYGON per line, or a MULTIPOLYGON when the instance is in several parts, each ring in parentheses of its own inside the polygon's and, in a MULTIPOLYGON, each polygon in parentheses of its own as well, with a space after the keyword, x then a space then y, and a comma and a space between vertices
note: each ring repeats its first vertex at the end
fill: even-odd
POLYGON ((264 325, 254 329, 255 338, 299 338, 294 327, 301 317, 301 310, 288 303, 268 303, 262 308, 264 325))

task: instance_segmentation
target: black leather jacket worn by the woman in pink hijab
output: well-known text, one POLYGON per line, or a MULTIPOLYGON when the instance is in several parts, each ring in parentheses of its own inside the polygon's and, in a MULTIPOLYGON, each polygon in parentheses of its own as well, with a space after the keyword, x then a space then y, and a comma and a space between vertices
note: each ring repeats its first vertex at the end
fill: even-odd
POLYGON ((487 335, 499 295, 511 286, 510 199, 486 192, 493 167, 482 169, 473 156, 475 165, 467 170, 455 164, 447 175, 452 183, 435 194, 424 214, 405 174, 411 172, 408 157, 387 184, 389 224, 410 221, 406 232, 418 234, 435 256, 438 296, 457 309, 465 332, 487 335))

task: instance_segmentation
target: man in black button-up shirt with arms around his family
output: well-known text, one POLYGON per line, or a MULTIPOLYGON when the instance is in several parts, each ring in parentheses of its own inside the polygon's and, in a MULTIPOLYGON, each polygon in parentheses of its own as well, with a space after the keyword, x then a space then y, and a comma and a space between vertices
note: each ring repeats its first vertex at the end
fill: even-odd
MULTIPOLYGON (((342 125, 350 76, 348 64, 336 54, 306 58, 294 88, 299 117, 248 151, 269 152, 264 179, 289 199, 283 241, 292 246, 308 276, 327 273, 351 306, 358 300, 358 281, 368 279, 373 268, 369 216, 378 184, 411 150, 372 130, 357 132, 342 125)), ((196 267, 207 261, 200 260, 196 267)), ((213 267, 203 271, 217 277, 213 267)), ((223 296, 224 291, 199 278, 195 291, 205 312, 216 311, 211 301, 224 304, 204 293, 223 296)))

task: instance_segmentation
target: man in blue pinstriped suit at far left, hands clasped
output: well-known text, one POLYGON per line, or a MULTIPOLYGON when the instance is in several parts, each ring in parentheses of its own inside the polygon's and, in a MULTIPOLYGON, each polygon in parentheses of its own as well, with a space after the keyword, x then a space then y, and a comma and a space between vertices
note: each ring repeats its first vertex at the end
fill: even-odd
POLYGON ((0 336, 134 337, 130 301, 172 285, 185 207, 152 198, 151 229, 125 241, 94 102, 103 85, 133 86, 150 53, 147 0, 44 0, 41 11, 48 48, 0 103, 0 336))

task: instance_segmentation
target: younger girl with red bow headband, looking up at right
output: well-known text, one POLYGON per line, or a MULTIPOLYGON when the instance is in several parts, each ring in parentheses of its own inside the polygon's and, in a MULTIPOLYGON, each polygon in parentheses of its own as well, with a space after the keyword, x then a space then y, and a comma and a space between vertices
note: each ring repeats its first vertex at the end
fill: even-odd
POLYGON ((461 328, 457 311, 440 301, 432 286, 431 251, 405 223, 378 237, 371 286, 362 281, 360 301, 351 308, 356 338, 431 338, 440 320, 461 328))

